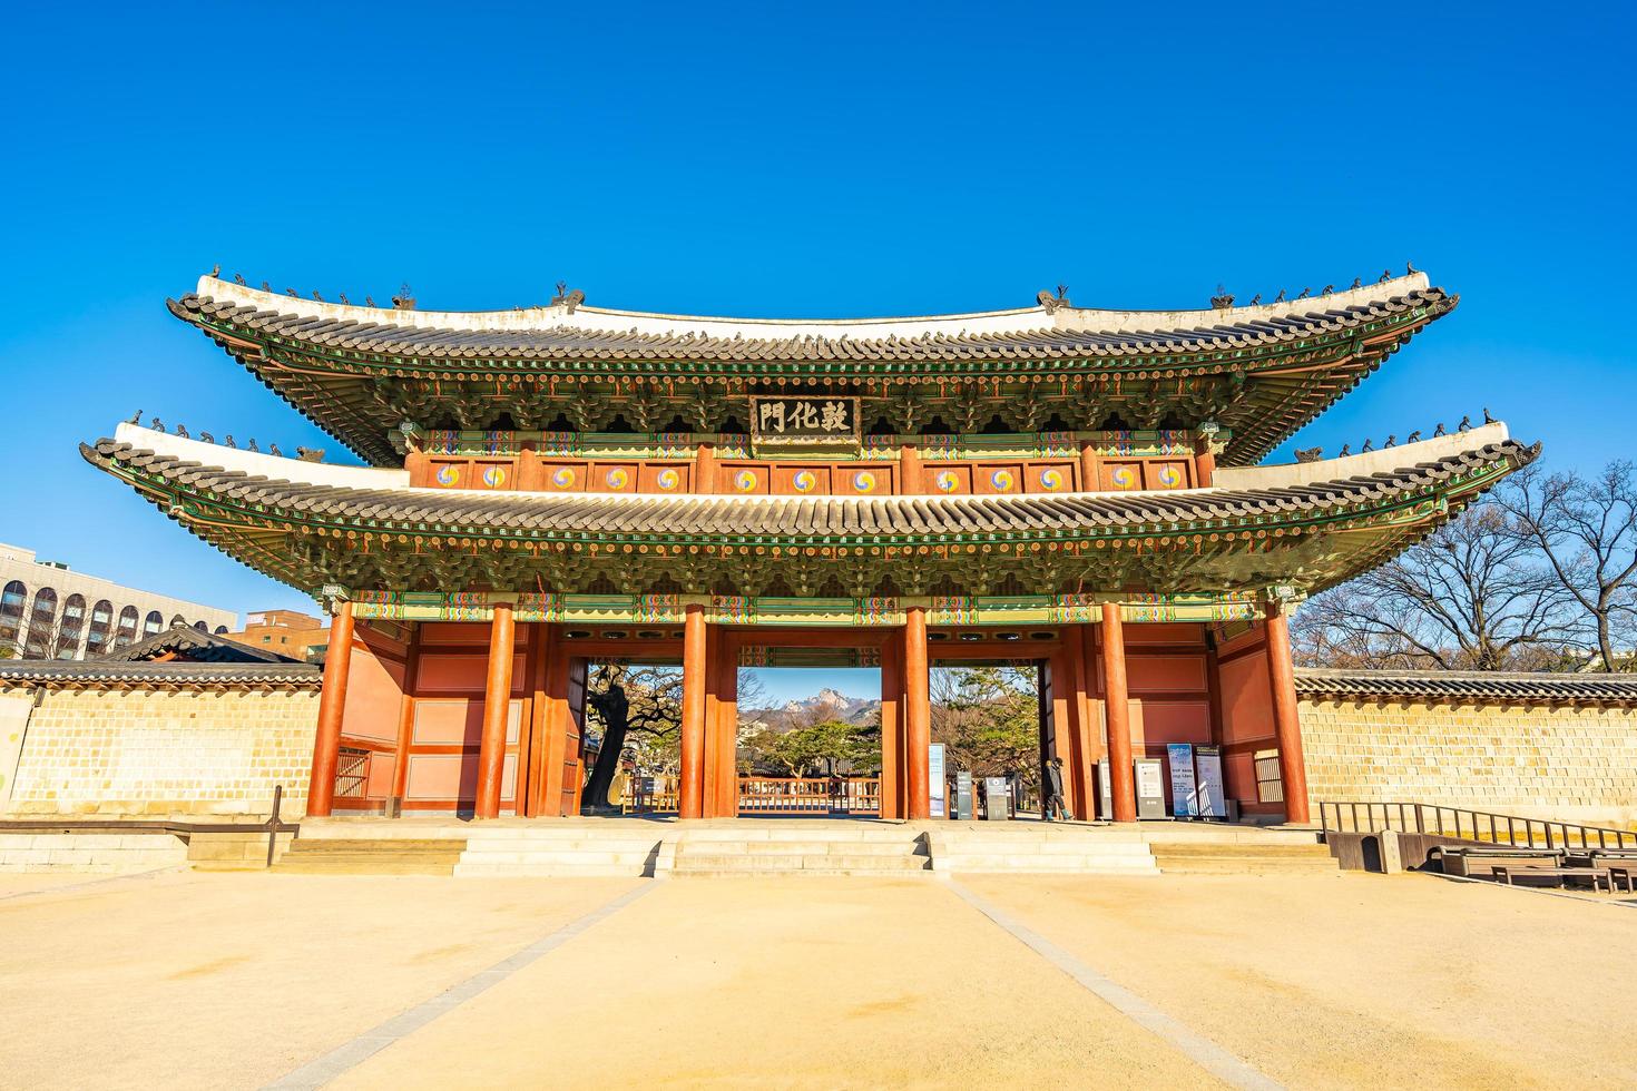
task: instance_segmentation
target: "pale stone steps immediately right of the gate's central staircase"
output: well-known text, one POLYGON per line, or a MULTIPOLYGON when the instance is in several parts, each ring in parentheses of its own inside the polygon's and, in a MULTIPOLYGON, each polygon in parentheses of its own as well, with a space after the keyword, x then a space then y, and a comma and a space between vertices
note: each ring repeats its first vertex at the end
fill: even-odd
POLYGON ((1159 875, 1136 829, 949 823, 928 834, 940 873, 1159 875))

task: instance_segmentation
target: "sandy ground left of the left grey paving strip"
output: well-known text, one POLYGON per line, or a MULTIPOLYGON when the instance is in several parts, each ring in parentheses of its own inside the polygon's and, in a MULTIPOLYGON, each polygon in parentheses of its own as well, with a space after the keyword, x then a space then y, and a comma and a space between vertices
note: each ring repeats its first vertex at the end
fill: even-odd
POLYGON ((0 1086, 259 1086, 638 882, 174 872, 5 898, 0 1086))

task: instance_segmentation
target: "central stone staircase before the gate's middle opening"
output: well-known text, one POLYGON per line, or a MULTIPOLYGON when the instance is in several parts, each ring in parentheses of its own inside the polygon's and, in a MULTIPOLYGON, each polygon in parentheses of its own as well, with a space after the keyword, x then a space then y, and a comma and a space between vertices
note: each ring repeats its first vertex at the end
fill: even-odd
POLYGON ((758 824, 684 831, 660 860, 661 873, 681 877, 879 875, 931 873, 927 837, 905 826, 841 823, 820 826, 758 824))

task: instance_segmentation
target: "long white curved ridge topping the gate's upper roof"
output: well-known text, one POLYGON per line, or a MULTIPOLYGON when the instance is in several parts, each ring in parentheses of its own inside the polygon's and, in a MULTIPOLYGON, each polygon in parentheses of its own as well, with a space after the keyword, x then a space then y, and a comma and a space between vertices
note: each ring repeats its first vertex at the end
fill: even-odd
POLYGON ((1254 308, 1202 308, 1195 311, 1105 311, 1098 308, 1020 308, 1015 311, 977 311, 972 314, 928 314, 920 317, 879 319, 735 319, 694 314, 655 314, 648 311, 611 311, 579 306, 517 308, 512 311, 398 311, 360 308, 342 303, 319 303, 236 285, 216 276, 200 276, 198 294, 216 301, 234 301, 257 311, 293 314, 329 322, 363 322, 403 329, 440 330, 543 330, 568 329, 588 334, 660 334, 743 339, 856 339, 923 337, 963 334, 1026 334, 1080 330, 1095 334, 1134 334, 1193 330, 1213 326, 1269 322, 1298 314, 1342 311, 1369 306, 1427 288, 1426 273, 1395 276, 1377 285, 1349 288, 1329 296, 1308 296, 1254 308))

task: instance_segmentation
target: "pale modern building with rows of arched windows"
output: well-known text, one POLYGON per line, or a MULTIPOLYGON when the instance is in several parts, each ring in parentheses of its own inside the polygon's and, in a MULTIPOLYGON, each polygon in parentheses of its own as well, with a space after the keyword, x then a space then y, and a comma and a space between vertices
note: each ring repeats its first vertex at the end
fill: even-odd
POLYGON ((0 545, 0 656, 95 659, 177 625, 226 633, 237 622, 232 610, 123 587, 0 545))

